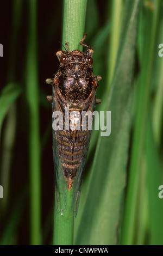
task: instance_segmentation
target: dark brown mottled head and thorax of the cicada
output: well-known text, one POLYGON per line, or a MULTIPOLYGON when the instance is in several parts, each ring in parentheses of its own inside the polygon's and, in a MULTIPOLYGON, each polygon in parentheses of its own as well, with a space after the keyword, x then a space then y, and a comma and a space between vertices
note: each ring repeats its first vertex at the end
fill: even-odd
POLYGON ((85 53, 76 50, 67 54, 67 60, 60 65, 58 88, 67 101, 83 102, 92 92, 93 79, 92 66, 85 53))

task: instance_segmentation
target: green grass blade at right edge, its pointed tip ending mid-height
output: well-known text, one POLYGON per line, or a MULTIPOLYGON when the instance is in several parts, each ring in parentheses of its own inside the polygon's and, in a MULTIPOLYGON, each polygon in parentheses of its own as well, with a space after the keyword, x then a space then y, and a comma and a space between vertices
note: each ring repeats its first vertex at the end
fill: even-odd
MULTIPOLYGON (((149 111, 151 113, 151 111, 149 111)), ((163 205, 158 197, 162 185, 161 161, 154 141, 151 115, 149 114, 146 133, 147 182, 149 202, 149 241, 151 245, 163 245, 163 205)))

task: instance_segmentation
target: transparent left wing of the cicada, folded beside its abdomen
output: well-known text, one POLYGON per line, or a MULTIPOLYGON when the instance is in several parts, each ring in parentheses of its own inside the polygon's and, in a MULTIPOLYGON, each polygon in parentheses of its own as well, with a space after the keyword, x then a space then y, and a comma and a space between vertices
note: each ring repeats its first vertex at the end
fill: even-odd
MULTIPOLYGON (((59 103, 55 98, 53 91, 53 100, 52 100, 52 111, 60 111, 59 103)), ((55 210, 57 214, 61 214, 67 209, 67 187, 65 184, 65 179, 63 175, 62 165, 59 158, 59 149, 58 149, 58 130, 53 129, 53 160, 54 160, 54 182, 55 182, 55 210)))

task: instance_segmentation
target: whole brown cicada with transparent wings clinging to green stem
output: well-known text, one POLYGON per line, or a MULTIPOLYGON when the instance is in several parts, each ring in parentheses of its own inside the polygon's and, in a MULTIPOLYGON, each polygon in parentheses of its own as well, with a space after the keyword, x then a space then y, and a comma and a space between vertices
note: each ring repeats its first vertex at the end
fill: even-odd
MULTIPOLYGON (((57 214, 67 210, 67 190, 73 189, 70 210, 77 216, 82 176, 89 150, 91 128, 96 105, 97 81, 92 70, 92 47, 80 45, 87 51, 70 52, 68 43, 65 51, 56 53, 60 65, 57 74, 46 82, 53 86, 53 157, 55 173, 55 205, 57 214), (89 117, 88 116, 89 113, 89 117), (92 115, 91 115, 91 114, 92 115), (89 119, 89 120, 88 120, 89 119), (56 122, 58 121, 58 123, 56 122)), ((48 100, 50 97, 48 96, 48 100)))

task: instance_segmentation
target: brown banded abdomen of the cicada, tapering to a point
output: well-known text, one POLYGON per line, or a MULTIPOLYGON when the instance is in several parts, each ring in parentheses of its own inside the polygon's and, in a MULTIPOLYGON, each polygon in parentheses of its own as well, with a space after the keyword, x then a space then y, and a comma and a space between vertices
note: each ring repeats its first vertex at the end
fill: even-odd
POLYGON ((71 190, 73 181, 83 161, 85 162, 86 148, 89 143, 89 131, 60 131, 57 132, 57 151, 62 166, 66 186, 71 190))

